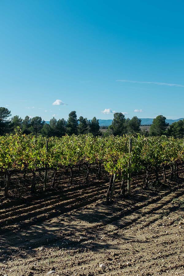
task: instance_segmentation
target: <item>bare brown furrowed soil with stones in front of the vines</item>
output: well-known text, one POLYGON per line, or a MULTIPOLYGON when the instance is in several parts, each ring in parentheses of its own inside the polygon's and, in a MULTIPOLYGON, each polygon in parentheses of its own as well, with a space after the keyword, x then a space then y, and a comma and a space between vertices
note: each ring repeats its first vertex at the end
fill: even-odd
POLYGON ((113 205, 103 182, 2 203, 0 275, 184 275, 183 178, 149 191, 143 178, 125 199, 117 183, 113 205))

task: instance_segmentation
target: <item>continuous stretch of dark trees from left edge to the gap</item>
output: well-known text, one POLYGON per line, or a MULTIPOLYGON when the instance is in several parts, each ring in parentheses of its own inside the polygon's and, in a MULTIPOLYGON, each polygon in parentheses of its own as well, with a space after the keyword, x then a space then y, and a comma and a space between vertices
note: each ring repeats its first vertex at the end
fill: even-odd
POLYGON ((0 107, 0 135, 6 133, 14 133, 14 129, 21 128, 23 134, 33 133, 34 135, 42 135, 47 137, 57 136, 62 137, 66 134, 86 134, 92 133, 94 136, 101 135, 99 122, 94 117, 92 120, 87 120, 82 116, 77 118, 76 111, 71 111, 68 115, 68 120, 52 118, 49 124, 42 120, 41 117, 25 116, 24 119, 18 115, 11 116, 11 111, 5 107, 0 107))

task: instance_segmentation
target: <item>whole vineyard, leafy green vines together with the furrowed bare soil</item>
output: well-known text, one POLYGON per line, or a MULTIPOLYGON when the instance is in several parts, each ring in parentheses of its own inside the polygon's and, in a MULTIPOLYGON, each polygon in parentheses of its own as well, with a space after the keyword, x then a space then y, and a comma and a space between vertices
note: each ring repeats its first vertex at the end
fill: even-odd
MULTIPOLYGON (((58 271, 56 275, 121 275, 124 270, 125 275, 153 275, 157 269, 154 264, 150 274, 139 274, 134 263, 139 260, 146 271, 150 261, 136 255, 139 249, 132 247, 132 241, 135 238, 135 246, 141 244, 140 251, 144 250, 144 243, 148 239, 152 242, 155 233, 158 238, 162 236, 163 230, 158 229, 168 224, 166 218, 172 231, 178 222, 184 223, 183 160, 184 140, 166 136, 102 138, 86 134, 47 139, 20 130, 0 136, 2 273, 46 275, 53 268, 58 271), (43 251, 39 249, 42 247, 43 251), (17 263, 23 252, 23 263, 17 263), (131 258, 129 254, 133 254, 131 258), (58 256, 63 258, 61 263, 58 256), (98 262, 105 263, 103 269, 98 262), (36 268, 30 269, 33 263, 36 268), (81 268, 85 271, 81 272, 81 268)), ((160 252, 165 258, 167 245, 177 246, 172 236, 164 241, 165 247, 158 240, 154 242, 157 246, 149 250, 157 252, 159 248, 155 260, 160 258, 160 252)), ((178 254, 177 250, 167 251, 168 256, 178 254)), ((169 275, 180 270, 181 262, 177 262, 175 267, 170 260, 168 271, 174 274, 169 275)), ((167 268, 159 267, 157 274, 160 271, 168 275, 167 268)))

